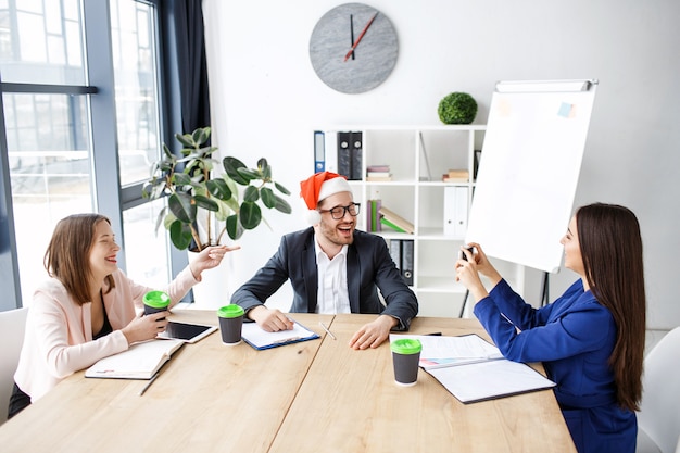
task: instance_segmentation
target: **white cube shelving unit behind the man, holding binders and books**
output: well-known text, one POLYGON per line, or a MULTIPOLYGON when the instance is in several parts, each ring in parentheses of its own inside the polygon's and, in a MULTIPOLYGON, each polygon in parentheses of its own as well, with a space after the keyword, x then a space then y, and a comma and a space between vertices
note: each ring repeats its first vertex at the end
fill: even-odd
MULTIPOLYGON (((418 297, 419 315, 458 316, 466 290, 455 281, 454 266, 465 240, 466 224, 457 225, 453 234, 445 234, 444 191, 451 190, 450 187, 467 191, 463 197, 465 205, 454 206, 463 210, 461 222, 466 223, 475 191, 475 150, 482 148, 486 126, 343 126, 329 128, 326 134, 332 136, 337 131, 362 131, 363 178, 350 180, 354 201, 362 203, 357 228, 367 229, 367 200, 372 199, 380 199, 382 206, 413 223, 413 235, 386 228, 376 234, 388 244, 394 239, 414 241, 412 289, 418 297), (366 167, 382 164, 390 166, 392 180, 367 181, 366 167), (467 169, 469 179, 444 183, 442 175, 449 169, 467 169)), ((494 265, 521 292, 522 266, 496 261, 494 265)))

